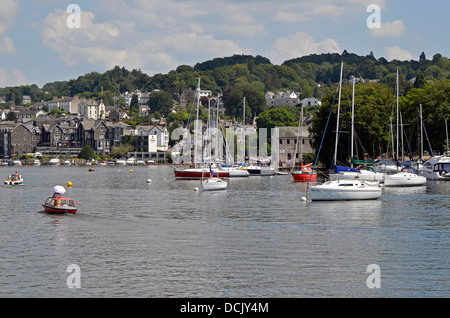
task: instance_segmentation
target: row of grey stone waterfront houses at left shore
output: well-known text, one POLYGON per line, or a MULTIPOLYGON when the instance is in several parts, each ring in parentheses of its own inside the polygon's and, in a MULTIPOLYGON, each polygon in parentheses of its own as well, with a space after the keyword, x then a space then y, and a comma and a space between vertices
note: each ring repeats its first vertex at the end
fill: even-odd
POLYGON ((87 145, 98 155, 109 155, 111 148, 124 144, 126 138, 133 151, 142 153, 143 158, 169 148, 169 133, 162 126, 132 128, 121 121, 45 115, 23 122, 0 122, 0 156, 22 156, 35 151, 57 155, 68 149, 75 156, 87 145))

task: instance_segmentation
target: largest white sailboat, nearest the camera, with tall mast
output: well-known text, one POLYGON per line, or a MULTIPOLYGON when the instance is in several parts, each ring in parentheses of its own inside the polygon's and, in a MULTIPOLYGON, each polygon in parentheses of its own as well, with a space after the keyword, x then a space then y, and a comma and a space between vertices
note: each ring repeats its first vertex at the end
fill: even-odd
MULTIPOLYGON (((336 142, 334 163, 336 165, 337 144, 339 135, 339 112, 341 106, 341 88, 343 62, 341 63, 341 77, 339 81, 339 100, 336 123, 336 142)), ((321 185, 314 185, 309 188, 312 201, 339 201, 339 200, 375 200, 381 197, 382 189, 379 182, 368 182, 363 180, 330 180, 321 185)))

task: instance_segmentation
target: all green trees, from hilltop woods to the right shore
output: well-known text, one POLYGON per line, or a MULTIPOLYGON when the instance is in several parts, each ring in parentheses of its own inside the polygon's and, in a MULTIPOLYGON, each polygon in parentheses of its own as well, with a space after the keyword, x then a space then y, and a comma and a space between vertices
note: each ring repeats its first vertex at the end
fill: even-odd
MULTIPOLYGON (((273 124, 281 125, 280 120, 285 120, 285 125, 292 125, 293 118, 298 120, 299 108, 284 107, 270 112, 266 107, 264 94, 267 91, 296 91, 301 99, 316 97, 322 100, 323 106, 315 111, 312 125, 315 146, 318 147, 335 97, 341 61, 344 62, 343 131, 349 130, 349 79, 355 76, 359 80, 356 88, 355 121, 359 143, 357 155, 360 158, 364 153, 375 158, 389 152, 389 122, 397 71, 400 74, 400 105, 405 137, 409 143, 405 145, 405 151, 411 150, 417 154, 420 104, 423 106, 428 136, 425 139, 425 149, 431 148, 439 152, 445 150, 444 121, 450 119, 450 60, 441 54, 427 59, 422 53, 417 61, 388 62, 383 57, 376 59, 372 53, 359 56, 344 51, 341 55, 319 54, 295 58, 282 65, 273 65, 262 56, 234 55, 215 58, 195 66, 180 65, 167 74, 153 76, 141 70, 129 71, 116 66, 103 74, 91 72, 77 79, 47 83, 42 88, 37 85, 0 88, 0 97, 7 102, 3 104, 6 107, 21 104, 23 95, 30 95, 32 102, 51 100, 54 96, 79 95, 82 98, 103 99, 106 105, 113 105, 115 95, 136 89, 143 92, 158 89, 162 93, 151 99, 151 112, 158 116, 168 116, 170 124, 178 125, 192 119, 189 116, 192 115, 192 107, 176 115, 170 114, 170 96, 175 97, 189 88, 195 90, 198 78, 201 78, 202 89, 222 94, 225 117, 242 120, 245 97, 246 122, 250 123, 254 117, 260 117, 258 125, 270 127, 273 124)), ((136 114, 137 109, 130 109, 129 113, 136 114)), ((201 116, 205 119, 206 115, 201 113, 201 116)), ((139 121, 142 119, 136 118, 136 123, 139 121)), ((330 123, 335 125, 335 118, 331 118, 330 123)), ((334 141, 330 135, 332 132, 327 131, 326 134, 321 152, 324 164, 329 163, 332 158, 331 149, 334 148, 331 144, 334 141)), ((342 162, 348 159, 348 143, 349 134, 342 134, 339 143, 342 147, 339 160, 342 162)))

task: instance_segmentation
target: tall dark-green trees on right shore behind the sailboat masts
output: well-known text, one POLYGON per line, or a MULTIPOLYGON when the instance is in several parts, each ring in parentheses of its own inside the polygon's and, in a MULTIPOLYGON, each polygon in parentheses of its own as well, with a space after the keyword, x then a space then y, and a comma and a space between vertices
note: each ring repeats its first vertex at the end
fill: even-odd
MULTIPOLYGON (((400 90, 402 89, 400 85, 400 90)), ((337 91, 324 96, 322 107, 314 111, 310 128, 314 146, 319 149, 320 161, 331 167, 336 138, 337 91), (333 109, 331 110, 331 107, 333 109), (328 126, 327 126, 328 123, 328 126), (325 129, 327 128, 327 129, 325 129)), ((399 138, 403 138, 404 155, 420 155, 421 125, 423 116, 423 149, 429 154, 447 150, 446 120, 450 120, 450 80, 440 79, 421 88, 411 88, 399 98, 399 138)), ((350 163, 352 86, 343 85, 338 142, 338 162, 350 163)), ((396 148, 396 93, 395 86, 381 83, 356 84, 355 86, 355 153, 358 159, 391 157, 396 148), (391 126, 392 122, 392 126, 391 126)), ((400 149, 402 147, 400 146, 400 149)), ((401 151, 401 150, 400 150, 401 151)))

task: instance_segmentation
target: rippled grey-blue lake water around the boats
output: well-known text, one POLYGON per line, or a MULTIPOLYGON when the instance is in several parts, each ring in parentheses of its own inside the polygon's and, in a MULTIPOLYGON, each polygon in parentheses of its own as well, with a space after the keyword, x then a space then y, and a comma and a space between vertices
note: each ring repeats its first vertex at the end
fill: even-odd
POLYGON ((450 182, 302 202, 289 175, 201 192, 172 166, 93 168, 19 167, 24 185, 0 186, 0 297, 450 296, 450 182), (43 212, 57 184, 77 214, 43 212))

